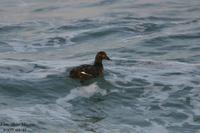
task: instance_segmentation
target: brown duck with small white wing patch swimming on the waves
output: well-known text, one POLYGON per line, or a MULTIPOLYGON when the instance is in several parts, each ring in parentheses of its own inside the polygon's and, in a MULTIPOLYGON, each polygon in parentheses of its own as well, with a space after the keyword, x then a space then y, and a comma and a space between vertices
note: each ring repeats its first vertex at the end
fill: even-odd
POLYGON ((71 69, 69 77, 78 79, 80 82, 103 76, 103 60, 111 60, 105 51, 100 51, 96 54, 93 64, 83 64, 71 69))

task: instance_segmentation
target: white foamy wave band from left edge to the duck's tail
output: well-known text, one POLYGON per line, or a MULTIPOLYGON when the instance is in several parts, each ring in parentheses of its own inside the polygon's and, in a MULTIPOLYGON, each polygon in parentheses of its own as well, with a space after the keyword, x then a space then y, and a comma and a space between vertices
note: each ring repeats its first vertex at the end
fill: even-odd
POLYGON ((57 60, 0 60, 1 79, 43 79, 48 75, 59 75, 67 68, 86 63, 88 61, 57 60))

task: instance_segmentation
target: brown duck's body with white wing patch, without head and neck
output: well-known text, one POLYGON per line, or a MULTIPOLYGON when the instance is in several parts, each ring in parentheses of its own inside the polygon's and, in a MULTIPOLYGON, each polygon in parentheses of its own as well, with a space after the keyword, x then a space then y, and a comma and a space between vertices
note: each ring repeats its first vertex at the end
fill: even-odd
POLYGON ((95 78, 102 74, 103 68, 96 67, 94 65, 81 65, 74 67, 70 71, 71 78, 77 78, 81 80, 87 80, 90 78, 95 78))

